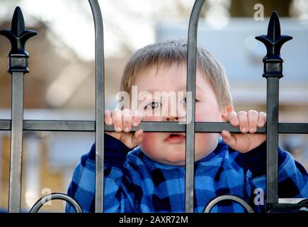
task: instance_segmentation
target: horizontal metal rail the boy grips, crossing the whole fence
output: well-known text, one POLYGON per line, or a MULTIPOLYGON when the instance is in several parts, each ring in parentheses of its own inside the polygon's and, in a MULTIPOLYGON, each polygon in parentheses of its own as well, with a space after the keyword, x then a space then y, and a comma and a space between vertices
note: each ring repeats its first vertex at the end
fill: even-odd
MULTIPOLYGON (((132 132, 142 128, 144 132, 185 132, 186 125, 177 122, 142 122, 132 127, 132 132)), ((10 131, 11 120, 0 120, 0 131, 10 131)), ((238 127, 227 122, 195 122, 196 133, 220 133, 227 130, 240 133, 238 127)), ((95 121, 54 121, 23 120, 23 131, 76 131, 94 132, 95 121)), ((113 126, 105 126, 105 131, 115 131, 113 126)), ((266 127, 258 128, 256 133, 266 133, 266 127)), ((308 134, 308 123, 278 123, 278 133, 308 134)))

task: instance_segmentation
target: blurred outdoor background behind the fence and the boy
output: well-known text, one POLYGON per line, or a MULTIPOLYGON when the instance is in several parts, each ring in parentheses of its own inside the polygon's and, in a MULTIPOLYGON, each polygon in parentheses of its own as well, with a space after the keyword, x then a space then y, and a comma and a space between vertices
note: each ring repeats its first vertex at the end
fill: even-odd
MULTIPOLYGON (((132 52, 159 40, 186 40, 194 1, 99 3, 105 36, 105 106, 113 109, 132 52)), ((26 45, 30 73, 25 74, 24 118, 94 120, 94 29, 88 1, 1 0, 0 29, 11 28, 16 6, 21 6, 26 28, 38 31, 26 45)), ((254 37, 266 34, 274 10, 280 15, 282 33, 293 36, 281 51, 285 77, 280 79, 280 122, 308 122, 308 1, 208 0, 201 12, 198 45, 226 68, 236 110, 266 111, 262 77, 266 50, 254 37)), ((11 75, 6 72, 10 48, 0 36, 1 119, 11 118, 11 75)), ((45 194, 67 192, 74 166, 94 138, 94 133, 24 133, 23 211, 45 194)), ((280 146, 308 169, 307 135, 280 135, 280 146)), ((0 208, 4 211, 9 148, 10 132, 0 131, 0 208)), ((42 211, 64 211, 64 203, 52 201, 42 211)))

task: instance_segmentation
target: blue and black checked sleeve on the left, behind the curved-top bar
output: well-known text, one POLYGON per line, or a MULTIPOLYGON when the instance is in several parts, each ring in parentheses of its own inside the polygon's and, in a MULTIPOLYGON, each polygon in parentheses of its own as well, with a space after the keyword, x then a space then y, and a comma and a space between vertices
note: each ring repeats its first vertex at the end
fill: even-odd
MULTIPOLYGON (((104 211, 132 212, 134 189, 124 166, 126 155, 132 149, 108 134, 104 138, 104 211)), ((67 192, 76 199, 84 213, 95 210, 95 157, 96 147, 93 144, 90 152, 81 156, 75 167, 67 192)), ((67 204, 66 211, 74 212, 74 208, 67 204)))

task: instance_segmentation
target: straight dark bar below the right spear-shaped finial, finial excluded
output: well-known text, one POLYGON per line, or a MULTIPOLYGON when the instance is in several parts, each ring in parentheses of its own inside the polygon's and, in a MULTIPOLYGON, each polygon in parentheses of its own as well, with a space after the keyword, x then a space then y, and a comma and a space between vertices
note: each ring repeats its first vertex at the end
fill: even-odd
POLYGON ((266 94, 267 202, 278 203, 279 77, 268 77, 266 94))

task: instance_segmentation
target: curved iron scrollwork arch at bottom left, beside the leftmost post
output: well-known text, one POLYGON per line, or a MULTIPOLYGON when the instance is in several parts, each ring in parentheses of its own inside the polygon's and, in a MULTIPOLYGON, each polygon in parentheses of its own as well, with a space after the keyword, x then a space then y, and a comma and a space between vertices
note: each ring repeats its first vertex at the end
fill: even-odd
POLYGON ((72 197, 68 196, 67 194, 62 194, 62 193, 52 193, 52 194, 47 194, 46 196, 42 196, 30 209, 29 213, 38 213, 40 208, 46 204, 48 201, 54 200, 54 199, 60 199, 69 202, 71 204, 76 213, 83 213, 81 206, 78 204, 78 202, 73 199, 72 197))

